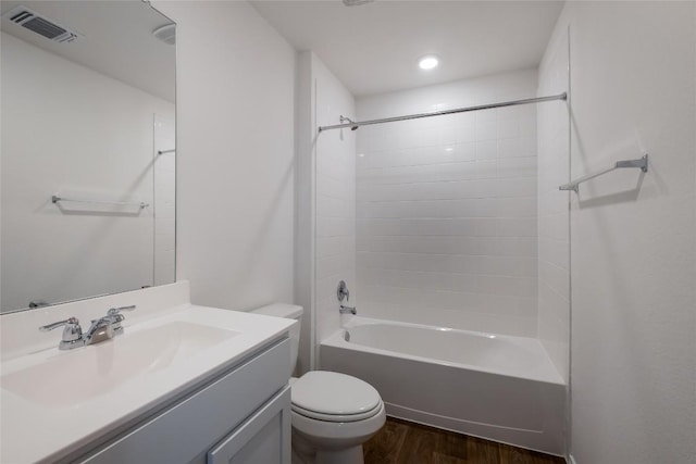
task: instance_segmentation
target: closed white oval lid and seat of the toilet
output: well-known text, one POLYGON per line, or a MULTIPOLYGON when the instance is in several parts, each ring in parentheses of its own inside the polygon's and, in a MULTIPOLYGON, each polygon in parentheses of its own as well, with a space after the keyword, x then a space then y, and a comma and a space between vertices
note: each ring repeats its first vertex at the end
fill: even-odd
POLYGON ((382 406, 370 384, 349 375, 312 371, 291 388, 293 410, 319 421, 355 422, 372 417, 382 406))

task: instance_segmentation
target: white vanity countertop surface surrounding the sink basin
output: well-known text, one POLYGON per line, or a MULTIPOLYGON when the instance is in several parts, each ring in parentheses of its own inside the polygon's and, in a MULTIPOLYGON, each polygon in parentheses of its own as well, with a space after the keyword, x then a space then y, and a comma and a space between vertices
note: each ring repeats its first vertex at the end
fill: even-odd
MULTIPOLYGON (((125 341, 129 336, 136 336, 158 325, 177 322, 225 329, 235 334, 214 346, 175 359, 165 367, 145 369, 145 373, 76 404, 61 404, 60 400, 55 401, 55 404, 39 404, 23 397, 22 392, 10 391, 2 385, 1 462, 14 464, 54 461, 65 456, 110 430, 133 422, 153 406, 182 394, 206 377, 237 364, 260 347, 281 338, 293 324, 296 324, 290 319, 188 303, 171 311, 162 311, 145 321, 135 321, 132 325, 126 319, 123 323, 124 335, 100 344, 113 343, 109 349, 116 350, 116 343, 125 341)), ((60 351, 54 346, 5 360, 2 363, 1 378, 34 365, 50 363, 58 356, 71 356, 80 350, 99 350, 100 344, 69 351, 60 351)), ((84 355, 85 353, 76 359, 82 360, 84 355)), ((80 376, 80 366, 75 365, 74 368, 74 381, 85 381, 80 376)), ((65 385, 51 385, 50 378, 45 378, 44 381, 46 388, 55 389, 57 394, 60 394, 61 388, 70 388, 65 385)))

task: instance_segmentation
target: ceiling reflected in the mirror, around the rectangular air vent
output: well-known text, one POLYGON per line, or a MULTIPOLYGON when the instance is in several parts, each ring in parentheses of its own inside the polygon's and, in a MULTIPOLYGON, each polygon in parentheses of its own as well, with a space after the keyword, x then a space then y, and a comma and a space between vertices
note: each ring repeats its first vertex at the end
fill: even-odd
POLYGON ((2 1, 2 14, 17 5, 82 34, 58 43, 2 18, 2 32, 101 74, 174 101, 175 47, 152 30, 172 23, 141 1, 2 1))

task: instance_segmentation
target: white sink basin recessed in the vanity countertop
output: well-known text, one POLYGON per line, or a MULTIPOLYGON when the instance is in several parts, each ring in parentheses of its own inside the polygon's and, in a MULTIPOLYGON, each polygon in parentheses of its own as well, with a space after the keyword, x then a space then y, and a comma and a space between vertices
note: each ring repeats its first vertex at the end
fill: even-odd
POLYGON ((176 321, 59 352, 0 377, 2 389, 49 407, 77 405, 239 333, 176 321))

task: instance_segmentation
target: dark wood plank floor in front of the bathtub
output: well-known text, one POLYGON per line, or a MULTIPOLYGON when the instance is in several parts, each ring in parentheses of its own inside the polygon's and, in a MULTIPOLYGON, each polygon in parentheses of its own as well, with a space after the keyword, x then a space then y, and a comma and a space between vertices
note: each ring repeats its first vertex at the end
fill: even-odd
POLYGON ((363 452, 365 464, 566 464, 562 457, 393 417, 363 452))

